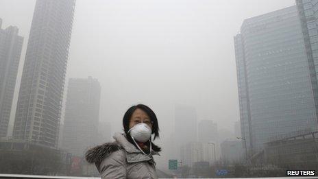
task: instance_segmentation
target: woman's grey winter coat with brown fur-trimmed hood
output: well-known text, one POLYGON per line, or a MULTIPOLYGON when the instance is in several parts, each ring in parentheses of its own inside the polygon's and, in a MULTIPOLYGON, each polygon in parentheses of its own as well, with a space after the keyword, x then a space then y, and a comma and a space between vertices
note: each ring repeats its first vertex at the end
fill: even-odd
POLYGON ((98 145, 86 152, 88 163, 95 163, 101 178, 158 178, 156 163, 152 155, 160 152, 160 147, 152 144, 151 156, 146 156, 125 134, 116 133, 112 143, 98 145))

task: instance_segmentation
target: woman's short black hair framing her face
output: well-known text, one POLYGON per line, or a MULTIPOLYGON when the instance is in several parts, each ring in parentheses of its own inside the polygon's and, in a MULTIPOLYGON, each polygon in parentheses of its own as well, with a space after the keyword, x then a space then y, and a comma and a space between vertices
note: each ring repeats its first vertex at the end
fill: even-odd
MULTIPOLYGON (((151 110, 151 108, 149 108, 148 106, 144 104, 137 104, 136 106, 130 107, 125 112, 125 115, 123 115, 123 130, 125 131, 125 134, 127 134, 128 130, 130 130, 129 128, 130 118, 132 117, 132 113, 134 113, 136 109, 143 110, 144 112, 147 113, 152 123, 152 134, 155 134, 154 140, 156 139, 156 137, 159 138, 159 126, 158 126, 158 120, 157 120, 156 114, 153 110, 151 110)), ((130 136, 130 134, 127 134, 127 135, 130 136)))

